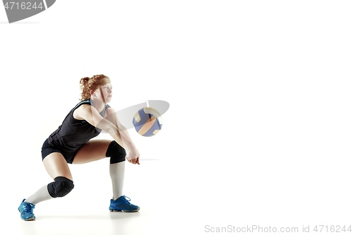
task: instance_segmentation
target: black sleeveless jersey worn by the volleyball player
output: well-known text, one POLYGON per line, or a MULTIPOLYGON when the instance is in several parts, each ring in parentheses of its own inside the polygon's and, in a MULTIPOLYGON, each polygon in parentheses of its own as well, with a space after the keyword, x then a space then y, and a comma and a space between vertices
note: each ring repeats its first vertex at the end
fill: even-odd
MULTIPOLYGON (((73 117, 73 111, 82 104, 90 104, 94 107, 91 100, 83 100, 79 102, 76 107, 71 109, 63 123, 59 128, 49 135, 48 143, 59 150, 66 152, 76 152, 80 147, 88 143, 92 138, 95 138, 102 131, 100 128, 92 126, 85 120, 78 120, 73 117)), ((100 116, 104 117, 105 111, 110 106, 105 104, 104 109, 100 112, 100 116)))

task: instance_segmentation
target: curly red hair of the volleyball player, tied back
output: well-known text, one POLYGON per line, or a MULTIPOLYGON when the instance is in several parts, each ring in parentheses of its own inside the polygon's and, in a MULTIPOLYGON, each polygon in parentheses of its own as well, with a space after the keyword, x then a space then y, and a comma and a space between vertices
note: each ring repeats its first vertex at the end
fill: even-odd
POLYGON ((110 78, 104 76, 103 74, 92 76, 92 78, 81 78, 80 88, 81 88, 81 98, 80 101, 90 99, 90 91, 97 90, 102 85, 110 83, 110 78))

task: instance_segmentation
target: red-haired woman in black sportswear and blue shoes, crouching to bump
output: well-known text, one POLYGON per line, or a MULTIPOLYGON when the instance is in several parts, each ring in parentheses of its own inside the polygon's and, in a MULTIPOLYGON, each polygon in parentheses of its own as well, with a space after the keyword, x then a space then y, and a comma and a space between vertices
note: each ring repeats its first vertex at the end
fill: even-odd
POLYGON ((42 159, 52 183, 23 199, 18 210, 23 220, 34 220, 37 203, 64 197, 73 189, 73 177, 68 164, 83 164, 110 157, 109 173, 113 185, 110 211, 137 212, 140 207, 129 203, 123 195, 125 157, 132 164, 140 164, 140 154, 107 103, 112 100, 112 84, 104 75, 82 78, 81 102, 71 109, 63 123, 42 146, 42 159), (114 140, 90 140, 106 131, 114 140))

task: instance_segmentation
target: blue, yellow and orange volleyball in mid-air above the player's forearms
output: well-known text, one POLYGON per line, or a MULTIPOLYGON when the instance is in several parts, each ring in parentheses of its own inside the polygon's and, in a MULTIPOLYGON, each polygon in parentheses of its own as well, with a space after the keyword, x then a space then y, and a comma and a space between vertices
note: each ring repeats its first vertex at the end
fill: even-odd
POLYGON ((133 126, 140 135, 156 135, 162 128, 162 116, 156 109, 142 108, 133 116, 133 126))

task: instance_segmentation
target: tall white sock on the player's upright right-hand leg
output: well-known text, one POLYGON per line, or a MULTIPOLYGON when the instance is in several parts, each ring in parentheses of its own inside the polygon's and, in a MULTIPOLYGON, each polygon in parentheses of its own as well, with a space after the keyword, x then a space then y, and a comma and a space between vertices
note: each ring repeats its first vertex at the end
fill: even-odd
POLYGON ((112 179, 113 200, 123 195, 125 161, 109 164, 109 174, 112 179))

